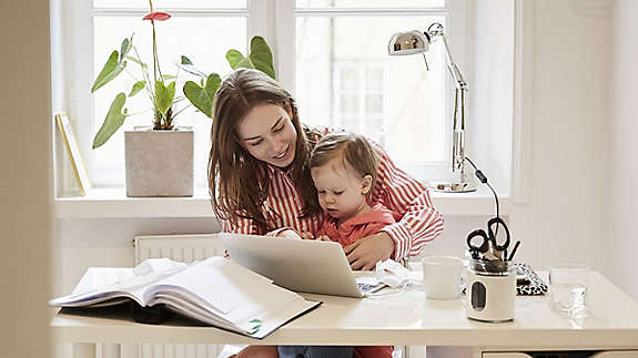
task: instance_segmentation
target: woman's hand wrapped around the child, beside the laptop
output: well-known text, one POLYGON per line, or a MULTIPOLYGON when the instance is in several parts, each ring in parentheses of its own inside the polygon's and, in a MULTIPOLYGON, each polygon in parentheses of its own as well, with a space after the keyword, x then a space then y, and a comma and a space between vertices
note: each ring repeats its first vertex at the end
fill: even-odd
POLYGON ((356 241, 344 247, 344 250, 352 269, 371 270, 377 262, 392 256, 394 239, 387 233, 381 232, 356 241))

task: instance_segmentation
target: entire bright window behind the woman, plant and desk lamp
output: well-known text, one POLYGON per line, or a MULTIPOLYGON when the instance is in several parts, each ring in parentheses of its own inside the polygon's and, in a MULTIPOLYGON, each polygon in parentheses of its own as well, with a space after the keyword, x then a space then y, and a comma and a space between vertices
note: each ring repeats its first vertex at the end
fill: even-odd
MULTIPOLYGON (((59 106, 75 120, 83 157, 97 186, 124 184, 123 131, 91 150, 113 96, 134 78, 90 88, 120 41, 134 33, 143 59, 151 58, 151 27, 141 17, 146 0, 59 0, 63 8, 64 95, 59 106), (70 20, 70 21, 65 21, 70 20), (119 82, 119 83, 118 83, 119 82)), ((458 2, 456 2, 458 3, 458 2)), ((452 88, 444 52, 433 45, 429 71, 419 55, 391 58, 387 41, 396 31, 424 31, 432 22, 456 27, 444 0, 154 0, 173 14, 156 27, 162 70, 174 74, 181 54, 204 72, 227 73, 225 51, 242 52, 254 34, 274 50, 277 79, 297 99, 302 121, 344 127, 382 144, 399 165, 418 177, 440 176, 449 162, 452 88)), ((455 7, 462 8, 456 4, 455 7)), ((452 37, 447 32, 448 38, 452 37)), ((453 40, 455 45, 458 41, 453 40)), ((55 42, 54 42, 55 43, 55 42)), ((453 50, 454 51, 454 50, 453 50)), ((458 58, 455 58, 458 62, 458 58)), ((131 67, 133 69, 133 67, 131 67)), ((180 75, 176 88, 190 80, 180 75)), ((59 88, 59 86, 58 86, 59 88)), ((55 101, 55 96, 54 96, 55 101)), ((150 108, 142 96, 131 111, 150 108)), ((54 103, 55 104, 55 103, 54 103)), ((124 130, 151 124, 151 111, 126 119, 124 130)), ((195 185, 206 185, 211 121, 194 109, 176 120, 195 131, 195 185)))

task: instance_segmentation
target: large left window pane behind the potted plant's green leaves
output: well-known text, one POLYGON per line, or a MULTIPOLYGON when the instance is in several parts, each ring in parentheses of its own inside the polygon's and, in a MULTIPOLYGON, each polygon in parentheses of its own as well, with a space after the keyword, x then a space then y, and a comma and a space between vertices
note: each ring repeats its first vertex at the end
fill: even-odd
MULTIPOLYGON (((140 58, 145 62, 152 75, 152 31, 148 21, 141 21, 139 17, 95 17, 94 21, 94 75, 104 65, 109 54, 120 49, 120 43, 133 32, 133 44, 140 58)), ((182 96, 182 88, 185 81, 199 81, 199 78, 178 71, 175 63, 180 55, 184 54, 193 61, 195 67, 209 74, 216 72, 220 75, 231 71, 225 60, 229 49, 237 49, 245 53, 246 44, 246 18, 243 17, 175 17, 169 21, 158 22, 155 25, 158 39, 158 52, 160 67, 163 74, 178 74, 175 96, 182 96)), ((129 53, 134 55, 134 51, 129 53)), ((129 93, 133 83, 142 79, 140 67, 129 61, 126 70, 115 80, 99 89, 93 95, 94 116, 93 133, 102 125, 112 100, 119 92, 129 93)), ((186 106, 188 100, 176 104, 174 112, 186 106)), ((142 91, 126 100, 129 113, 139 113, 126 117, 124 125, 102 147, 95 151, 95 164, 99 166, 123 166, 124 162, 124 131, 133 130, 134 126, 150 126, 153 121, 151 111, 152 103, 142 91), (141 113, 140 113, 141 112, 141 113)), ((195 166, 205 166, 210 143, 211 120, 202 113, 195 112, 193 106, 176 116, 179 126, 192 126, 195 131, 195 166)), ((195 180, 202 183, 202 175, 196 173, 195 180)))

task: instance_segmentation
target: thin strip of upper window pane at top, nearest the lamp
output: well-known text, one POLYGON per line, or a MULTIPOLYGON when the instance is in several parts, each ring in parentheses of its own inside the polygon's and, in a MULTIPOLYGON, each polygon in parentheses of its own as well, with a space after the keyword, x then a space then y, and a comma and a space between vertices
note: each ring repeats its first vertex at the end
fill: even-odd
POLYGON ((297 8, 443 8, 445 0, 296 0, 297 8))

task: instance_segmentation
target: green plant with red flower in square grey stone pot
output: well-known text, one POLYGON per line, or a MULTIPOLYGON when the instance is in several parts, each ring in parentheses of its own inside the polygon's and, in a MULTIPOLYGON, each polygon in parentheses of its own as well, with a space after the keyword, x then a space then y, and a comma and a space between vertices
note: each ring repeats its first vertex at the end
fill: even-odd
MULTIPOLYGON (((170 13, 154 11, 151 0, 151 12, 143 20, 151 21, 153 27, 153 64, 152 69, 142 61, 133 35, 122 41, 119 51, 113 50, 107 63, 95 78, 91 92, 95 92, 133 63, 139 69, 139 79, 128 92, 120 92, 113 99, 102 126, 93 140, 93 149, 103 145, 130 116, 125 108, 129 98, 145 94, 153 113, 152 126, 145 130, 124 133, 125 172, 128 196, 192 196, 193 195, 193 131, 176 127, 174 120, 184 113, 191 104, 212 117, 214 94, 221 83, 216 73, 205 74, 198 70, 184 55, 178 63, 178 73, 162 72, 158 60, 158 39, 155 21, 165 21, 170 13), (183 86, 184 96, 175 93, 175 83, 180 70, 200 78, 199 83, 188 81, 183 86)), ((240 67, 259 69, 274 78, 272 52, 261 37, 251 40, 251 53, 244 57, 237 50, 229 50, 226 59, 231 68, 240 67)), ((126 71, 135 76, 132 71, 126 71)))

